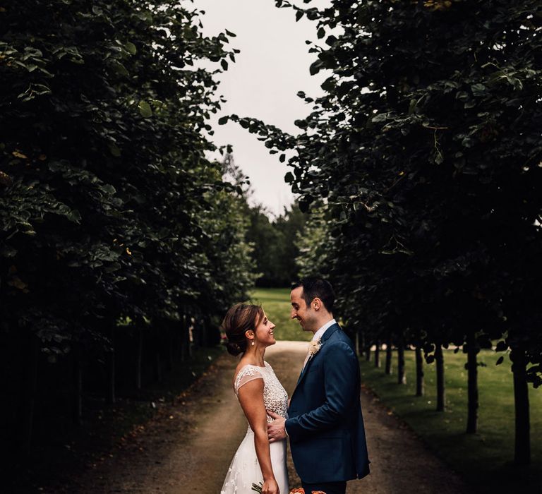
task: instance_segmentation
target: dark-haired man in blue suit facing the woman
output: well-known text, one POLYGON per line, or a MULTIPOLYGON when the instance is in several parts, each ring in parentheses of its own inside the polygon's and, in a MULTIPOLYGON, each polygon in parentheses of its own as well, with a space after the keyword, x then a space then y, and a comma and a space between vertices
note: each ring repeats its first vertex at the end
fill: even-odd
POLYGON ((325 279, 304 278, 290 294, 291 318, 313 332, 286 420, 268 424, 270 442, 290 440, 291 456, 307 494, 344 494, 347 481, 369 473, 354 345, 333 318, 335 295, 325 279))

